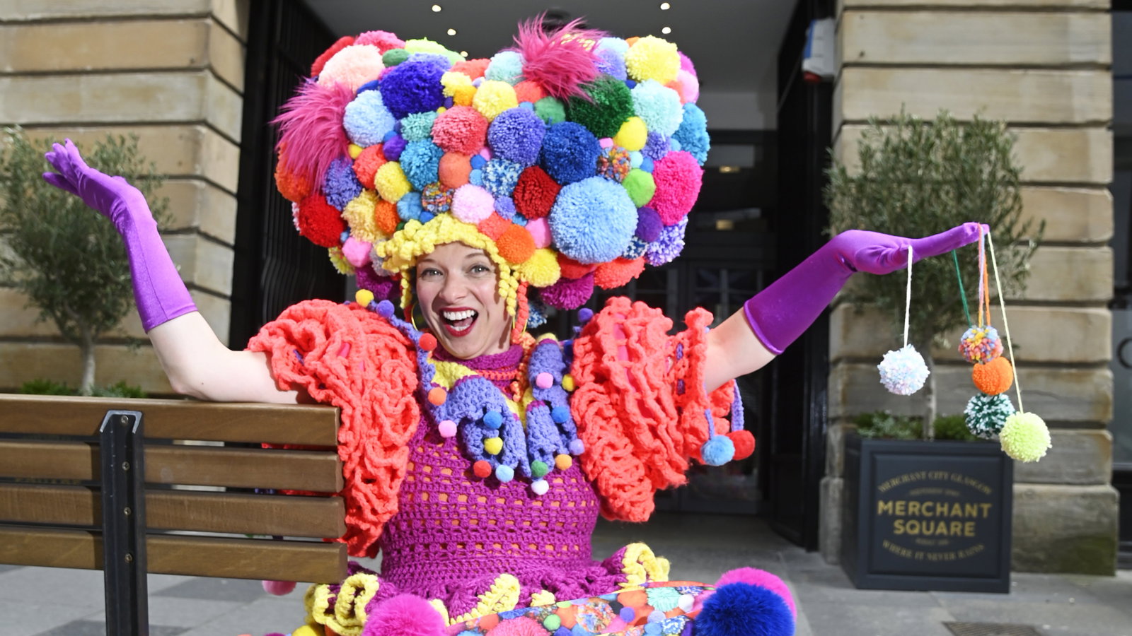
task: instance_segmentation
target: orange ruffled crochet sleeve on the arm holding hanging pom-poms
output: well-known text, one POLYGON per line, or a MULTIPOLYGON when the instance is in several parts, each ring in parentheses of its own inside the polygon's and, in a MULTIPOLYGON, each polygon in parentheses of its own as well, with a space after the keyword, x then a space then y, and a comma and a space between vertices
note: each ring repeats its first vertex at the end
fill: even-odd
POLYGON ((671 336, 659 309, 611 298, 574 340, 577 385, 571 411, 585 453, 578 461, 601 496, 607 518, 643 522, 657 490, 687 481, 689 458, 707 441, 707 409, 717 433, 735 383, 707 394, 703 376, 712 315, 694 309, 671 336))

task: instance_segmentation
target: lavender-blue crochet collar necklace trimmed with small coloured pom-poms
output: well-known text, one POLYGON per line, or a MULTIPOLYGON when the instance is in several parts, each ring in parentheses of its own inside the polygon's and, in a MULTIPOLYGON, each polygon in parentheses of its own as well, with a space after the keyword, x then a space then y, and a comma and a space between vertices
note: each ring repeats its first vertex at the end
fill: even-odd
MULTIPOLYGON (((569 469, 572 456, 585 450, 569 411, 569 367, 563 346, 554 338, 534 344, 518 383, 522 386, 525 380, 529 386, 520 399, 508 399, 482 371, 464 366, 465 361, 439 360, 434 354, 436 336, 397 318, 392 302, 375 302, 367 290, 360 290, 355 298, 413 343, 420 372, 418 392, 427 416, 445 439, 460 436, 477 478, 494 475, 504 483, 523 478, 535 495, 544 495, 550 489, 547 474, 552 469, 569 469)), ((520 371, 522 368, 521 363, 520 371)))

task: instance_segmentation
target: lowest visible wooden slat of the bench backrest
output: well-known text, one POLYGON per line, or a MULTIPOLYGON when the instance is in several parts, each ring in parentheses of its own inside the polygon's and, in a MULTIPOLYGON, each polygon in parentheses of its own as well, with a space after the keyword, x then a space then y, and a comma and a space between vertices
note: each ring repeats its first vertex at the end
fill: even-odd
MULTIPOLYGON (((336 583, 346 576, 344 543, 151 534, 148 571, 183 576, 336 583)), ((0 562, 102 568, 102 538, 87 530, 0 525, 0 562)))

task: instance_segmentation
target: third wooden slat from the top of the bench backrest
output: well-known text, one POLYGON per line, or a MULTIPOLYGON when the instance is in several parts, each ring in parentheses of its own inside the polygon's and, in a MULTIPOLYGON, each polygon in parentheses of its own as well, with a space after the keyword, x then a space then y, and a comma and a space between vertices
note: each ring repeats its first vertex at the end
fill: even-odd
MULTIPOLYGON (((337 538, 341 497, 146 490, 146 527, 239 534, 337 538)), ((101 497, 83 485, 0 483, 0 522, 98 525, 101 497)))

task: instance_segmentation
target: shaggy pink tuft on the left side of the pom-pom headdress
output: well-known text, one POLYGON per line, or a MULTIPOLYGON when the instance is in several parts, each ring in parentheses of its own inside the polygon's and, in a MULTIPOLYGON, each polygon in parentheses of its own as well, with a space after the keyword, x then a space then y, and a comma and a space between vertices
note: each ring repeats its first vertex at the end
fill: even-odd
POLYGON ((319 86, 307 80, 299 87, 283 104, 282 114, 272 120, 280 127, 275 151, 284 170, 321 188, 331 162, 349 152, 342 118, 353 97, 353 91, 343 84, 319 86))

